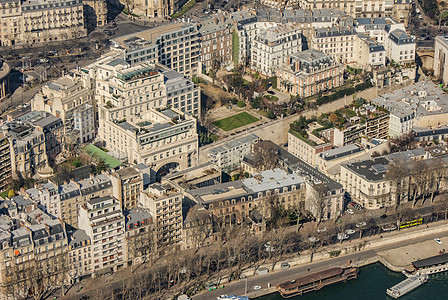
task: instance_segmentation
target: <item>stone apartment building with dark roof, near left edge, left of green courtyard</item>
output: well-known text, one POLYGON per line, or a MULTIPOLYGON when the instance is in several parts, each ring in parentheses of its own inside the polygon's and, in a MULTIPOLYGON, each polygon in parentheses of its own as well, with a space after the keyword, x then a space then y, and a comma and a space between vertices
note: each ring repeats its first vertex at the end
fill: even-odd
POLYGON ((2 130, 9 140, 11 170, 14 176, 20 174, 28 178, 47 165, 43 131, 17 121, 6 123, 2 130))

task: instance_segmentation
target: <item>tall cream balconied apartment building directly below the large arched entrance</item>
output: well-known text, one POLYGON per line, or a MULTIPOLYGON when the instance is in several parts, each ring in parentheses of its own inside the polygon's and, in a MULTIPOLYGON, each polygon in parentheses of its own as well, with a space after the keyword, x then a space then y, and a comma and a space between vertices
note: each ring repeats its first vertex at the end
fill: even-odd
POLYGON ((140 195, 142 206, 149 210, 156 230, 160 252, 180 248, 182 241, 182 193, 169 183, 153 183, 140 195))

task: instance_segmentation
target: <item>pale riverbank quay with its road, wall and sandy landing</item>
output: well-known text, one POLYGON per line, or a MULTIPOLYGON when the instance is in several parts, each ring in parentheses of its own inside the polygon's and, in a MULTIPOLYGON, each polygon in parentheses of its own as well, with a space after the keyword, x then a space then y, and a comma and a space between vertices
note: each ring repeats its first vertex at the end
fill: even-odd
MULTIPOLYGON (((243 272, 243 275, 246 276, 245 279, 228 283, 224 289, 218 291, 197 294, 193 296, 193 299, 216 299, 220 294, 244 295, 246 286, 247 295, 250 298, 256 298, 276 292, 276 286, 281 282, 333 266, 362 267, 381 262, 388 269, 401 272, 414 260, 413 258, 422 259, 436 255, 438 251, 443 250, 444 245, 448 249, 447 221, 432 223, 429 226, 421 225, 402 229, 380 236, 363 238, 362 240, 347 240, 341 244, 321 248, 314 253, 304 251, 297 257, 285 258, 276 264, 262 264, 258 269, 264 267, 270 270, 269 273, 264 275, 255 275, 257 270, 254 268, 246 269, 243 272), (434 242, 436 237, 442 240, 442 245, 434 242), (335 255, 337 256, 335 257, 335 255), (282 269, 282 262, 288 262, 290 269, 282 269), (267 288, 268 285, 270 288, 267 288), (254 286, 260 286, 262 289, 254 291, 254 286)), ((225 278, 221 280, 221 282, 225 281, 225 278)))

